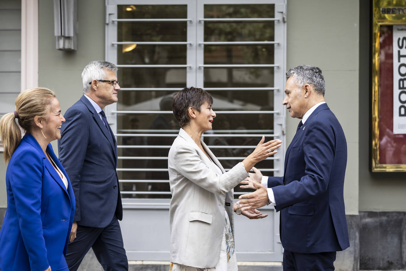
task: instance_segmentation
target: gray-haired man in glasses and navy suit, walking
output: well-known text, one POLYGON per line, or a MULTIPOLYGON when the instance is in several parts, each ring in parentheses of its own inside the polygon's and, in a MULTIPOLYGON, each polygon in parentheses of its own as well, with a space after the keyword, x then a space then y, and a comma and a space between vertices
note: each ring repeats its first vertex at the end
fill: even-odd
POLYGON ((117 67, 92 61, 82 72, 84 95, 65 113, 59 160, 71 180, 76 211, 66 262, 76 271, 92 247, 104 270, 128 270, 118 220, 123 208, 117 176, 117 143, 103 108, 117 102, 117 67))

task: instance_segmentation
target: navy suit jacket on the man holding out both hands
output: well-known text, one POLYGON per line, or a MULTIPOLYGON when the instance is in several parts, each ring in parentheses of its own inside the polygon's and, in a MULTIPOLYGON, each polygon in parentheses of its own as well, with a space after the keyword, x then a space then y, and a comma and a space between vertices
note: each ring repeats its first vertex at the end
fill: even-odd
POLYGON ((268 178, 276 211, 281 211, 285 249, 318 253, 350 246, 343 197, 346 165, 343 129, 321 104, 287 148, 284 176, 268 178))

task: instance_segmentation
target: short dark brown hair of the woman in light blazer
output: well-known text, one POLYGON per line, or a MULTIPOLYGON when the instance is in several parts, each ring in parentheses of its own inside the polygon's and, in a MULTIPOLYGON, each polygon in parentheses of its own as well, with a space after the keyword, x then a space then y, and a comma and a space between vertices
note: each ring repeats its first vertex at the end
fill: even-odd
POLYGON ((173 95, 173 115, 179 121, 180 127, 188 124, 190 119, 188 116, 189 107, 200 112, 200 107, 205 102, 213 104, 213 97, 207 91, 196 87, 185 87, 178 93, 173 95))

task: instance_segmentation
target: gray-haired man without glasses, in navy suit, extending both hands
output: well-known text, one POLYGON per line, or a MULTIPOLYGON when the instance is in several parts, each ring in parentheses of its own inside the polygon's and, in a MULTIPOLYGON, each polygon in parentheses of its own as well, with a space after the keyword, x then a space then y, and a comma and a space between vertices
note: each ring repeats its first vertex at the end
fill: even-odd
POLYGON ((242 208, 271 204, 280 213, 284 271, 334 270, 336 251, 350 246, 343 186, 347 144, 343 129, 324 102, 322 71, 300 65, 286 72, 283 104, 302 119, 285 154, 283 177, 255 169, 240 196, 242 208), (261 184, 262 183, 262 184, 261 184))

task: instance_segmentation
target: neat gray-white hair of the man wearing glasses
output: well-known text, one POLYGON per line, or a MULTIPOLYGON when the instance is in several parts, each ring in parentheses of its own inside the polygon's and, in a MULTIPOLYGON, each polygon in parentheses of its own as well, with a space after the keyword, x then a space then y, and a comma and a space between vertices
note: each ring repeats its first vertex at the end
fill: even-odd
POLYGON ((117 71, 116 65, 108 61, 92 61, 84 67, 82 72, 83 93, 90 90, 89 82, 92 80, 104 80, 106 78, 106 72, 104 69, 110 69, 113 72, 117 71))

